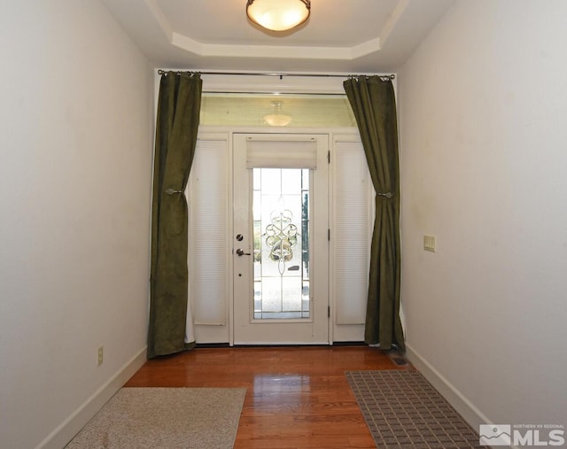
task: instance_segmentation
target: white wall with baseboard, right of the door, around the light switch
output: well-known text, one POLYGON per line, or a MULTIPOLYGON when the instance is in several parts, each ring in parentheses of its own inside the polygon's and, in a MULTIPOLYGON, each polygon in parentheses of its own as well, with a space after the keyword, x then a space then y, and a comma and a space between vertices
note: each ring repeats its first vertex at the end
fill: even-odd
POLYGON ((408 353, 475 425, 567 425, 565 18, 458 0, 399 72, 408 353))

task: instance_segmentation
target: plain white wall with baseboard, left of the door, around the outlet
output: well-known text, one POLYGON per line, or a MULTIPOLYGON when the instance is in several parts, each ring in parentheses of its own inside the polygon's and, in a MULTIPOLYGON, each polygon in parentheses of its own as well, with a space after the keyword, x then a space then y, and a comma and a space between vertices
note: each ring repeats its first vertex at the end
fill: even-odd
POLYGON ((0 59, 0 445, 61 447, 144 360, 152 74, 92 0, 4 2, 0 59))

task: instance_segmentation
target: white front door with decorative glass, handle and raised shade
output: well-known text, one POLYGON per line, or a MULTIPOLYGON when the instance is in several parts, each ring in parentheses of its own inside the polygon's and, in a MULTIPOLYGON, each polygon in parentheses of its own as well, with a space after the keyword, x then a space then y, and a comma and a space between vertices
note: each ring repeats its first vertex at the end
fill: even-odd
POLYGON ((235 134, 234 343, 329 343, 328 135, 235 134))

